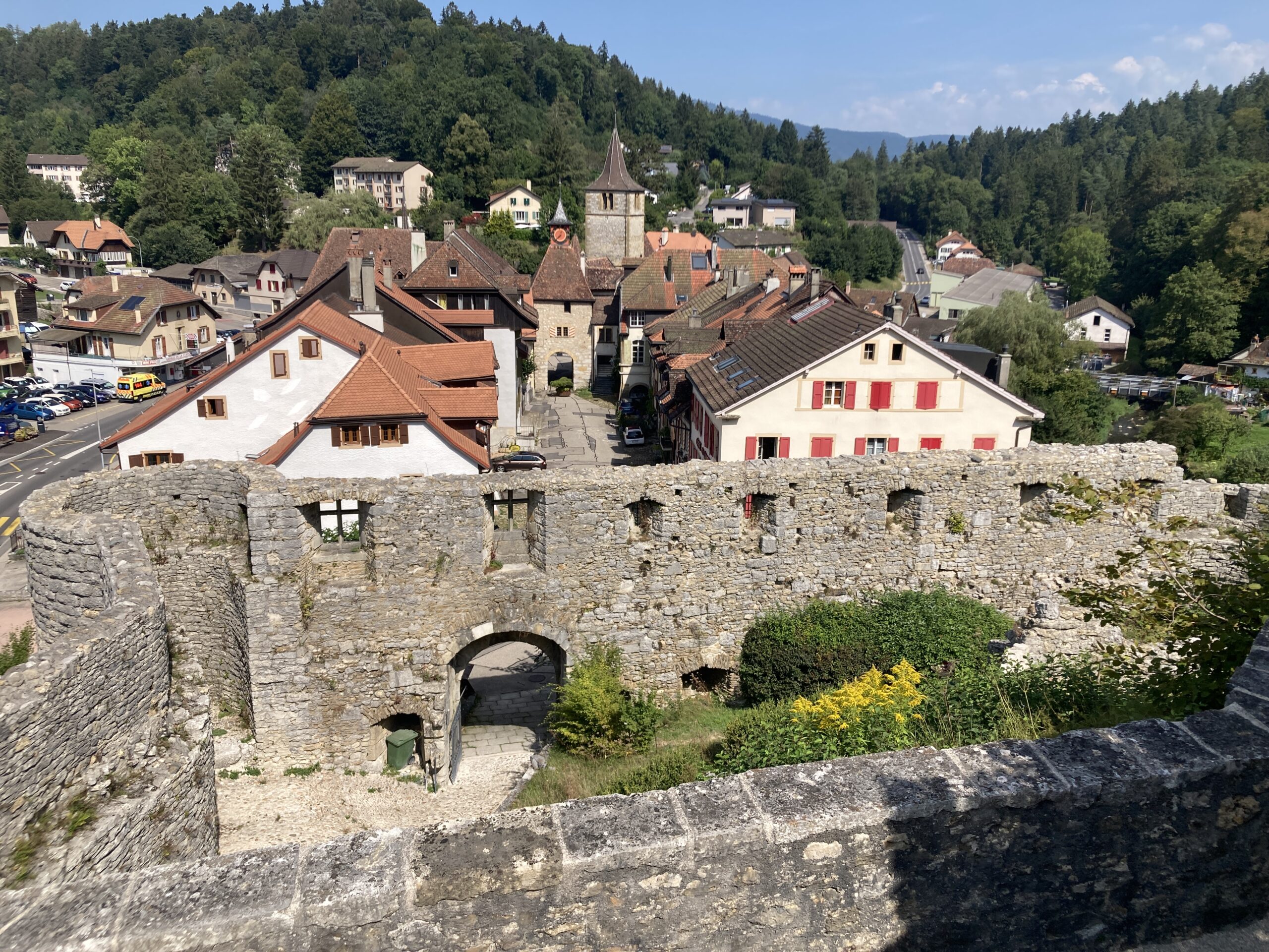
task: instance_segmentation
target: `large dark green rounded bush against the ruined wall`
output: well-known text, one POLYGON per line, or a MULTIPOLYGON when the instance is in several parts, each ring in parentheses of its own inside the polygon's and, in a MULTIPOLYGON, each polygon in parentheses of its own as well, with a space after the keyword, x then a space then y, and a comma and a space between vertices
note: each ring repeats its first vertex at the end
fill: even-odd
POLYGON ((1010 628, 995 608, 945 589, 893 592, 860 602, 811 602, 772 612, 745 635, 740 687, 751 703, 813 697, 902 660, 919 671, 978 664, 1010 628))

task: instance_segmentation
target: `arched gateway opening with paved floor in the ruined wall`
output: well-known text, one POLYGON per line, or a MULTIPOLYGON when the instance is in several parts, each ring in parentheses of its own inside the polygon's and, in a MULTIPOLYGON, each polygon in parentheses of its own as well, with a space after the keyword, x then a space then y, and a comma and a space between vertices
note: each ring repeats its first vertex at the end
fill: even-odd
POLYGON ((473 641, 450 661, 457 698, 449 724, 449 778, 464 758, 541 749, 565 652, 532 632, 499 632, 473 641))

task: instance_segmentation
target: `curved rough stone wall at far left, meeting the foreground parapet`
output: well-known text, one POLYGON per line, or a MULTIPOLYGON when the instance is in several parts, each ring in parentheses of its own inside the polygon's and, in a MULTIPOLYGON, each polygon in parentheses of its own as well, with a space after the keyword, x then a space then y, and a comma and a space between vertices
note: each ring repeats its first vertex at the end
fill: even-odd
POLYGON ((24 505, 38 650, 0 684, 0 880, 61 882, 216 852, 207 701, 173 689, 141 527, 24 505), (199 708, 202 715, 199 716, 199 708))

